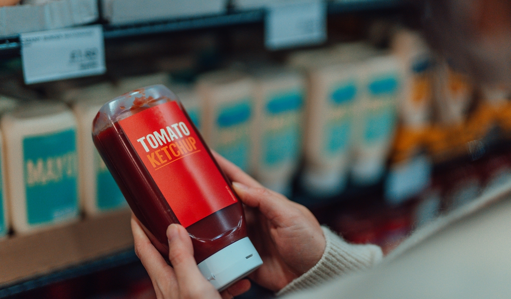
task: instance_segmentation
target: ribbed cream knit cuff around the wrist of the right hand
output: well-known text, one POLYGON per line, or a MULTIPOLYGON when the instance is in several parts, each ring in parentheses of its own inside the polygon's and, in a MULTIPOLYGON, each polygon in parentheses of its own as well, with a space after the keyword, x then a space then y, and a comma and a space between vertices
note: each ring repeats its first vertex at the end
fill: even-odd
POLYGON ((277 296, 323 284, 349 272, 366 269, 383 257, 377 245, 356 245, 344 241, 327 227, 321 227, 327 246, 319 262, 309 271, 278 291, 277 296))

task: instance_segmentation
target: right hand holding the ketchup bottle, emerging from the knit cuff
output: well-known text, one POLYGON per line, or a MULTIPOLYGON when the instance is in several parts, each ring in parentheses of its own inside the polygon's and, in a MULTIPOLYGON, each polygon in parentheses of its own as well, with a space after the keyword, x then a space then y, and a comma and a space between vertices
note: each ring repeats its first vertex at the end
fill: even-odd
POLYGON ((263 260, 249 277, 278 291, 321 259, 326 240, 319 222, 306 207, 263 187, 219 154, 213 155, 245 204, 248 235, 263 260))

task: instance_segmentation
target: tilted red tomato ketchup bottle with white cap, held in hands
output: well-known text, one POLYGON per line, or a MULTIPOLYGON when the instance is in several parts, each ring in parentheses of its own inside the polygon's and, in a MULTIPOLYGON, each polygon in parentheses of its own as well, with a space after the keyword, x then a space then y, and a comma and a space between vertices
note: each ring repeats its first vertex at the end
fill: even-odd
POLYGON ((185 227, 202 275, 223 290, 263 262, 241 202, 177 97, 162 85, 106 103, 92 138, 135 216, 168 261, 166 231, 185 227))

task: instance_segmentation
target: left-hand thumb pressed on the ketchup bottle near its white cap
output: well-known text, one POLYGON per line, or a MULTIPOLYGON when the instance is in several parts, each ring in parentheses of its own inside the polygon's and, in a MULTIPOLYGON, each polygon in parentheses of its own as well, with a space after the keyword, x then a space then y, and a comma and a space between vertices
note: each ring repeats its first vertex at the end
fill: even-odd
POLYGON ((174 268, 179 289, 193 290, 197 283, 207 283, 193 257, 192 239, 180 225, 172 224, 167 229, 169 238, 169 260, 174 268))

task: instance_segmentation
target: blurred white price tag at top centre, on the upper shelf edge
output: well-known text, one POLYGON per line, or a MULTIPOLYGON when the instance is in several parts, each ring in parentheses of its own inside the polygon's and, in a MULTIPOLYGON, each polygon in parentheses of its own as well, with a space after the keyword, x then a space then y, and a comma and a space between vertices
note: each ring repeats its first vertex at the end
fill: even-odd
POLYGON ((320 0, 275 2, 267 7, 269 49, 320 44, 327 40, 327 4, 320 0))

